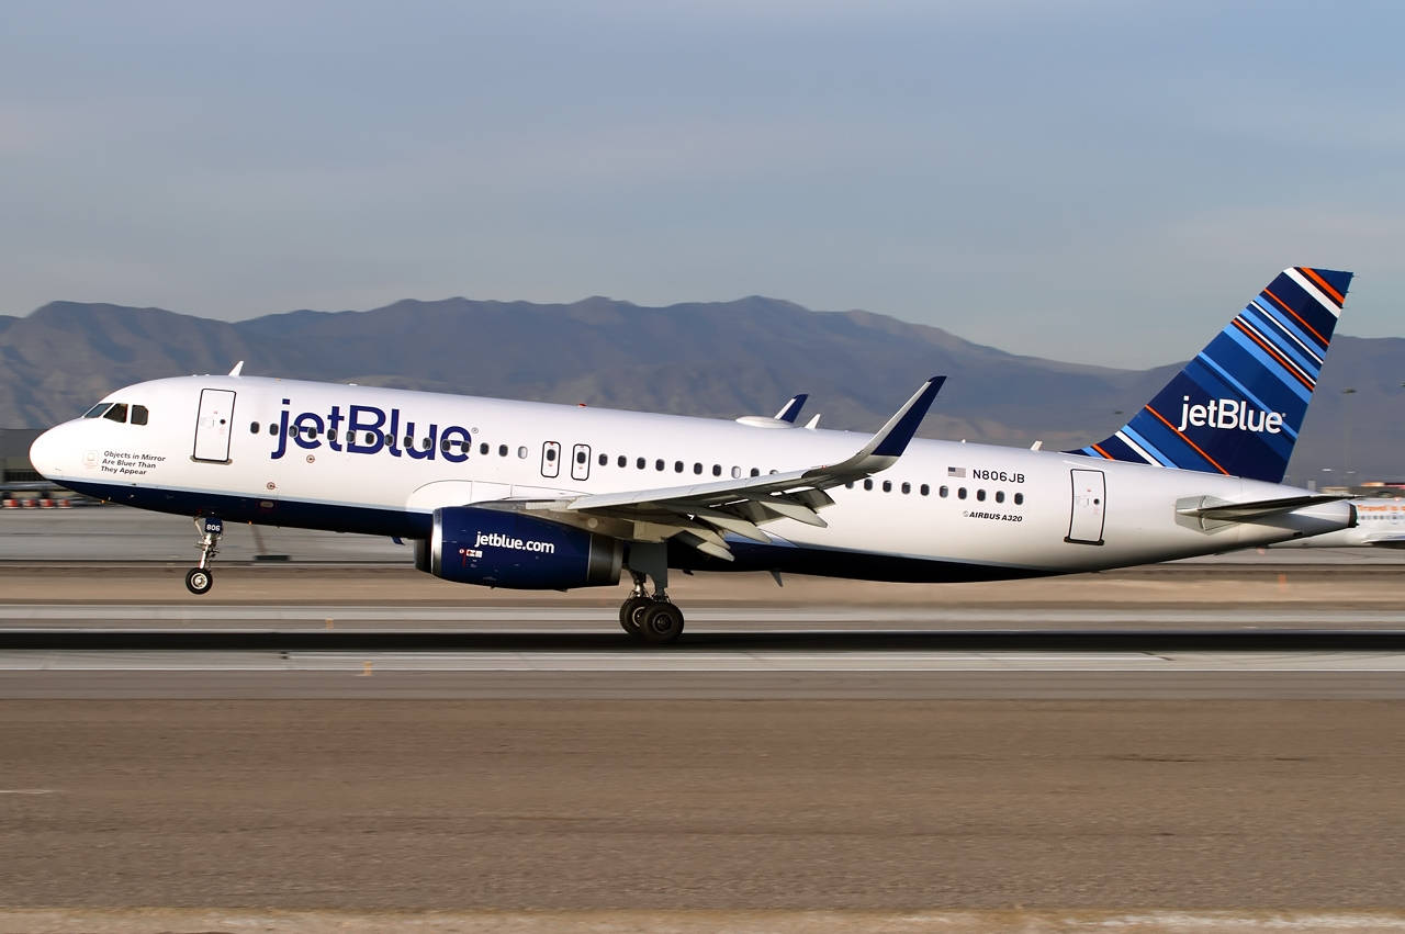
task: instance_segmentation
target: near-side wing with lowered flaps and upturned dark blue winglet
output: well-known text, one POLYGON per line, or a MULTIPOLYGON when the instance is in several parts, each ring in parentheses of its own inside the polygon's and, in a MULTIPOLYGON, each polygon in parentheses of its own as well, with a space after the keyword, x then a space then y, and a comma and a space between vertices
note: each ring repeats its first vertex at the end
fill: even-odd
POLYGON ((823 528, 826 522, 818 510, 835 501, 825 490, 861 480, 896 463, 946 379, 933 376, 922 383, 868 444, 839 463, 690 486, 544 500, 493 500, 473 506, 530 513, 632 541, 673 538, 705 555, 731 560, 732 553, 722 538, 726 532, 769 542, 760 525, 778 518, 823 528))

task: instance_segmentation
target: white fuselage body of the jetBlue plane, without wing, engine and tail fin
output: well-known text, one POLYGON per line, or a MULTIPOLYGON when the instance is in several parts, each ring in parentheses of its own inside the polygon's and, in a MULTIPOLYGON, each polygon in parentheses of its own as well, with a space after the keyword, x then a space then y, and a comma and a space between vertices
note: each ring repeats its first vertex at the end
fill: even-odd
MULTIPOLYGON (((436 507, 745 478, 835 463, 865 441, 847 431, 253 376, 157 379, 108 400, 145 407, 146 424, 63 423, 35 442, 35 468, 143 508, 410 538, 427 535, 436 507)), ((683 563, 971 580, 1138 565, 1350 527, 1345 503, 1243 522, 1177 514, 1198 497, 1295 493, 1307 492, 916 440, 888 471, 832 489, 826 528, 780 520, 764 525, 771 545, 738 546, 733 563, 683 563)))

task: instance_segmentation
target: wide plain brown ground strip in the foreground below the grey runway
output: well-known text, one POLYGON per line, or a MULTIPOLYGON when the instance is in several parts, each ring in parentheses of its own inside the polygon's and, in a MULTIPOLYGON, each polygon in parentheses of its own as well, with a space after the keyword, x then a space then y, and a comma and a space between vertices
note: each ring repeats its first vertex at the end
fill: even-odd
POLYGON ((0 905, 1398 909, 1402 736, 1398 701, 0 701, 0 905))

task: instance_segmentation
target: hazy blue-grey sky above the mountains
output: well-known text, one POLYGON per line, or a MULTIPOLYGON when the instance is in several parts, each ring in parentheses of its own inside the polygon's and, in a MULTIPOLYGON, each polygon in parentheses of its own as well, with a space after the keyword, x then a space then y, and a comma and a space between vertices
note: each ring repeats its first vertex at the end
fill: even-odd
POLYGON ((1287 264, 1405 334, 1405 6, 0 6, 0 312, 864 308, 1189 357, 1287 264))

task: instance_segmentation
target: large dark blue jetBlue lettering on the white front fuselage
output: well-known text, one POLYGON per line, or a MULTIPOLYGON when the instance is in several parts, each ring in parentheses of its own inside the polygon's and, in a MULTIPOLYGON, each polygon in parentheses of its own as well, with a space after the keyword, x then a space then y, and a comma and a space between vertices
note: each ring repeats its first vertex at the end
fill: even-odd
POLYGON ((284 410, 278 416, 278 437, 268 455, 277 461, 288 452, 291 440, 299 448, 316 451, 323 444, 333 451, 347 454, 381 454, 392 458, 407 456, 414 461, 444 458, 450 463, 468 459, 472 437, 468 428, 451 424, 443 428, 436 423, 416 423, 399 409, 377 406, 332 406, 326 414, 318 412, 288 410, 291 402, 282 400, 284 410))

